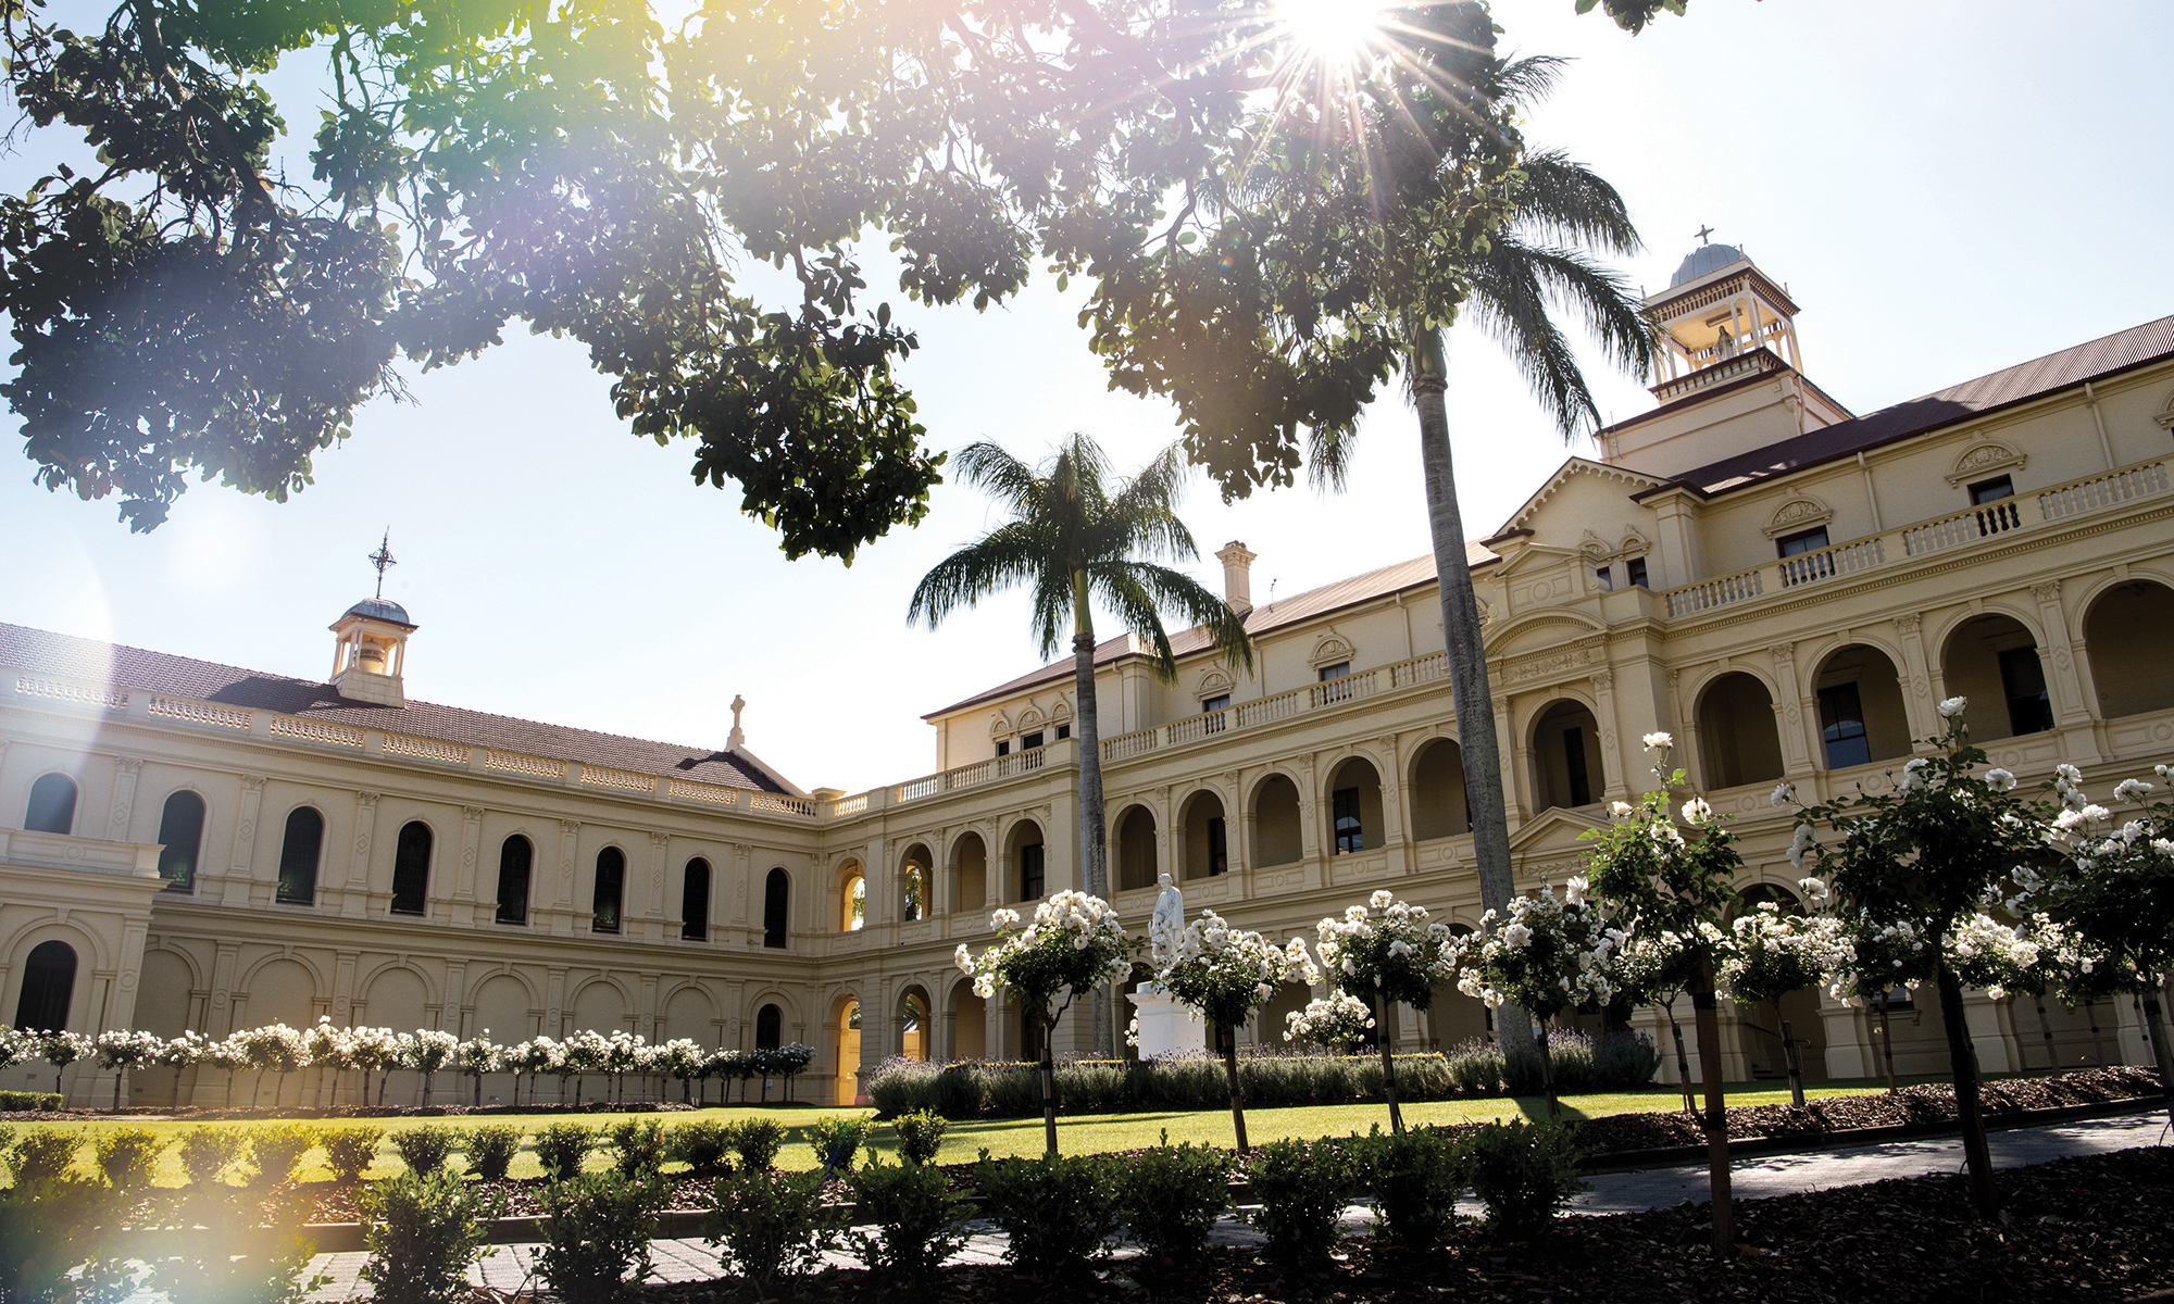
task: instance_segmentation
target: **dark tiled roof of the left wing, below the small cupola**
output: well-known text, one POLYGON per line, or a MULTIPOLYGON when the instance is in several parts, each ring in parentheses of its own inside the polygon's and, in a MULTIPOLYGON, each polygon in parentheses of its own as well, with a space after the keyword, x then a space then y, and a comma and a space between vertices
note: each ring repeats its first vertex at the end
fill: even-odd
POLYGON ((259 711, 278 711, 309 719, 396 730, 474 748, 526 752, 550 761, 587 761, 589 765, 609 765, 635 774, 672 774, 676 778, 759 789, 765 793, 789 791, 761 765, 737 752, 652 743, 585 728, 565 728, 561 724, 515 719, 511 715, 439 706, 437 702, 409 702, 407 706, 350 702, 333 685, 313 685, 309 680, 220 665, 217 661, 170 656, 165 652, 146 652, 143 648, 76 639, 72 635, 13 624, 0 624, 0 665, 57 678, 104 682, 120 689, 143 689, 226 706, 254 706, 259 711))

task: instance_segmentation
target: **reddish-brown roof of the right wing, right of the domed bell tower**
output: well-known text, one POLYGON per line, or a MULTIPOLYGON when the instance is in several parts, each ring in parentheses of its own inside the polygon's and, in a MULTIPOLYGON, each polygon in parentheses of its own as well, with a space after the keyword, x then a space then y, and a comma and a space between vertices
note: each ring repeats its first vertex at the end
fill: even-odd
POLYGON ((2159 317, 1852 422, 1726 456, 1683 472, 1676 480, 1702 493, 1726 493, 2167 356, 2174 356, 2174 317, 2159 317))

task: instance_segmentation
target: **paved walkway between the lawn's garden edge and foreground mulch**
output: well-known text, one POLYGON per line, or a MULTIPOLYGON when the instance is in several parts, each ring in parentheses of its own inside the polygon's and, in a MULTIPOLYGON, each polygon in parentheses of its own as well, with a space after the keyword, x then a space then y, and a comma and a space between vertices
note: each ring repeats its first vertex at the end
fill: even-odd
MULTIPOLYGON (((2167 1119, 2161 1111, 2122 1115, 2113 1119, 2087 1119, 2048 1128, 2015 1128, 1991 1132, 1989 1145, 1996 1167, 2024 1167, 2076 1154, 2107 1154, 2137 1145, 2159 1145, 2167 1137, 2167 1119)), ((1828 1150, 1815 1154, 1774 1154, 1763 1158, 1741 1158, 1731 1167, 1739 1200, 1765 1195, 1791 1195, 1798 1191, 1824 1191, 1828 1187, 1859 1187, 1885 1178, 1917 1178, 1924 1174, 1961 1171, 1963 1139, 1931 1137, 1924 1141, 1889 1141, 1885 1145, 1861 1145, 1852 1150, 1828 1150)), ((1707 1198, 1707 1169, 1670 1167, 1630 1174, 1600 1174, 1591 1178, 1594 1189, 1578 1195, 1574 1213, 1633 1213, 1644 1208, 1667 1208, 1683 1200, 1707 1198)), ((1461 1213, 1476 1215, 1480 1206, 1472 1200, 1459 1204, 1461 1213)), ((1344 1228, 1363 1232, 1374 1221, 1365 1204, 1344 1211, 1344 1228)), ((1257 1245, 1261 1234, 1224 1215, 1211 1237, 1217 1245, 1257 1245)), ((500 1245, 470 1276, 500 1291, 530 1289, 530 1261, 537 1245, 500 1245)), ((1130 1250, 1120 1250, 1120 1256, 1130 1250)), ((950 1263, 1002 1263, 1004 1237, 991 1224, 974 1224, 974 1237, 950 1263)), ((720 1276, 717 1252, 704 1241, 652 1241, 650 1261, 657 1265, 657 1280, 691 1282, 720 1276)), ((830 1263, 859 1267, 859 1261, 844 1252, 833 1252, 830 1263)), ((367 1297, 367 1287, 357 1280, 363 1254, 320 1254, 311 1271, 330 1274, 328 1287, 311 1295, 315 1302, 346 1302, 367 1297)))

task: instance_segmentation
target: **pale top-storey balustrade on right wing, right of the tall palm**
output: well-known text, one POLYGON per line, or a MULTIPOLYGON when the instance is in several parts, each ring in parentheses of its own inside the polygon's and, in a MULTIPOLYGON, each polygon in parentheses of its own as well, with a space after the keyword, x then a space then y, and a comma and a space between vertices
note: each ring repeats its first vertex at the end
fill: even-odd
POLYGON ((2000 498, 1970 511, 1915 522, 1850 539, 1813 552, 1798 552, 1765 565, 1754 565, 1731 576, 1698 580, 1667 589, 1661 598, 1667 615, 1698 615, 1717 606, 1748 602, 1783 589, 1798 589, 1839 576, 1867 572, 1891 561, 1926 556, 1954 548, 1970 548, 1985 539, 2015 532, 2031 532, 2052 522, 2067 522, 2085 513, 2104 511, 2137 498, 2165 493, 2170 487, 2167 463, 2163 459, 2115 467, 2098 476, 2054 485, 2026 498, 2000 498), (2037 515, 2031 500, 2037 498, 2037 515))

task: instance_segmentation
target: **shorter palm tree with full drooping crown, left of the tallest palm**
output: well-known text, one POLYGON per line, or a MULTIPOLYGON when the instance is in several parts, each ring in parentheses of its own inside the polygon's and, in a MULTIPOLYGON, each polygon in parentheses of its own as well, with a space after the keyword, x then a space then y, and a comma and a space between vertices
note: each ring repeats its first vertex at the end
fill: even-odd
MULTIPOLYGON (((1185 454, 1172 446, 1130 480, 1113 482, 1109 459, 1087 435, 1067 435, 1041 467, 1028 467, 989 441, 959 452, 959 474, 1011 511, 1011 519, 946 556, 922 576, 907 624, 935 628, 961 606, 1000 589, 1033 591, 1033 624, 1041 656, 1057 656, 1070 619, 1074 719, 1080 743, 1078 845, 1083 887, 1109 898, 1109 837, 1102 828, 1102 748, 1094 689, 1094 604, 1117 615, 1152 645, 1163 682, 1178 674, 1163 613, 1176 611, 1233 667, 1252 669, 1246 622, 1191 576, 1144 559, 1194 561, 1200 548, 1176 515, 1185 489, 1185 454)), ((1096 991, 1096 1054, 1113 1050, 1107 995, 1096 991)))

